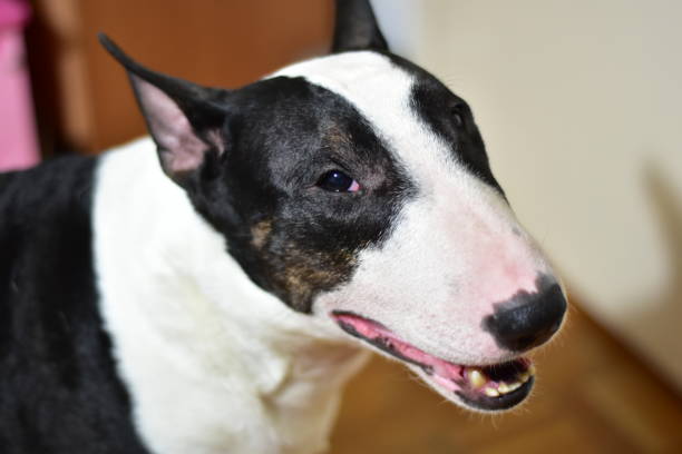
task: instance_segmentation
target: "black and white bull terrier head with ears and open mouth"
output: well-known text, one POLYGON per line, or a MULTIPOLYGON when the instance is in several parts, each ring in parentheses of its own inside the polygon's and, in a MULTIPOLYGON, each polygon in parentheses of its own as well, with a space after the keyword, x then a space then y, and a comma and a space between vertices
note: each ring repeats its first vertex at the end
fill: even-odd
POLYGON ((405 362, 448 399, 523 401, 519 355, 566 300, 493 177, 469 106, 391 55, 366 0, 333 51, 237 90, 127 69, 160 165, 291 309, 405 362))

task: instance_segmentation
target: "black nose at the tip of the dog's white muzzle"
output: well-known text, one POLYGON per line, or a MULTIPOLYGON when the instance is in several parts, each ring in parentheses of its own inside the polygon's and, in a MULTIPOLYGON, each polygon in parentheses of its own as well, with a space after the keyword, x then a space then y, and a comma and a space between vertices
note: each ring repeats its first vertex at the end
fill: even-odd
POLYGON ((544 344, 562 325, 566 298, 552 277, 542 275, 537 292, 519 292, 494 305, 495 313, 483 320, 500 348, 523 352, 544 344))

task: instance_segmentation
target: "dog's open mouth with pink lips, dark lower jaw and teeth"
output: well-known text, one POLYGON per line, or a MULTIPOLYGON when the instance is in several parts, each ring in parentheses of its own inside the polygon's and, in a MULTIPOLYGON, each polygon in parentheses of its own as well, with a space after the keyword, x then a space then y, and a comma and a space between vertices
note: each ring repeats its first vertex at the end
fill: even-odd
POLYGON ((533 387, 535 368, 528 358, 486 366, 455 364, 410 345, 378 322, 348 312, 333 312, 332 317, 348 334, 417 366, 441 394, 456 394, 469 407, 486 412, 512 408, 533 387))

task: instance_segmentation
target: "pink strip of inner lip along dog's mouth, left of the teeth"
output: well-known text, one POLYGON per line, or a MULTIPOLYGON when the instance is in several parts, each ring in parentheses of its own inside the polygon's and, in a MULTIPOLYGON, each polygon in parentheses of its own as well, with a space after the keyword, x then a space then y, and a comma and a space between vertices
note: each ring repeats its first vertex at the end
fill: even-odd
POLYGON ((447 361, 437 358, 428 353, 408 344, 407 342, 396 337, 393 333, 376 322, 368 320, 352 314, 333 314, 333 317, 340 324, 345 324, 352 327, 359 335, 370 340, 379 340, 383 345, 390 345, 392 351, 399 356, 406 357, 428 366, 433 372, 433 379, 448 388, 456 388, 452 381, 462 378, 462 366, 448 363, 447 361))

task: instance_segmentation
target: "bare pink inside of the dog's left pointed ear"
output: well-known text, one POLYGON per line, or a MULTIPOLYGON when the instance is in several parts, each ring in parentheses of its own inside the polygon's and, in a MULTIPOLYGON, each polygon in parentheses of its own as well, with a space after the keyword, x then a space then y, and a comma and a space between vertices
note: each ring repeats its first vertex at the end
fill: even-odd
MULTIPOLYGON (((162 150, 162 162, 166 172, 176 174, 194 170, 204 160, 208 145, 194 131, 189 120, 177 103, 163 90, 131 76, 139 97, 149 132, 162 150)), ((220 134, 208 131, 220 151, 223 151, 220 134)))

